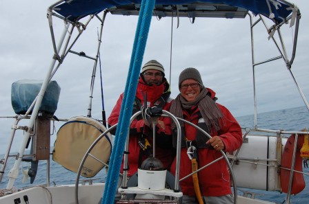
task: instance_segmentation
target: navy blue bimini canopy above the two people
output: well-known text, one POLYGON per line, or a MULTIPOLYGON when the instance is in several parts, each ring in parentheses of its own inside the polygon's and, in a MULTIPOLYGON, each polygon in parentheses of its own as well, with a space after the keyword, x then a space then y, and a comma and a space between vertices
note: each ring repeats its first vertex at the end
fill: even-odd
MULTIPOLYGON (((61 14, 68 21, 79 21, 79 19, 90 14, 97 14, 103 10, 118 10, 114 14, 138 14, 141 0, 64 0, 53 8, 54 12, 61 14), (130 8, 130 9, 128 9, 130 8), (135 12, 129 12, 135 10, 135 12)), ((188 17, 225 17, 237 18, 245 17, 245 11, 253 14, 261 14, 272 19, 275 23, 286 22, 288 16, 295 11, 295 6, 287 1, 279 0, 205 0, 205 1, 186 1, 186 0, 157 0, 154 15, 161 12, 161 16, 168 16, 170 9, 177 9, 177 12, 185 13, 188 17), (173 6, 177 5, 177 6, 173 6), (157 12, 156 12, 157 11, 157 12), (224 13, 225 15, 217 15, 224 13), (245 12, 238 15, 239 12, 245 12), (212 14, 215 13, 215 14, 212 14)))

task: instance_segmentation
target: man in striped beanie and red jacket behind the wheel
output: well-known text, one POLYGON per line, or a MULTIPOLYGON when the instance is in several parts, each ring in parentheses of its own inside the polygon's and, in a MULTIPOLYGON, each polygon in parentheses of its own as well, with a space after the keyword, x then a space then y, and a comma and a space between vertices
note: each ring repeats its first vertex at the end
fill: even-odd
MULTIPOLYGON (((139 83, 137 85, 136 99, 134 101, 133 114, 141 110, 141 106, 157 106, 163 110, 170 107, 170 85, 164 77, 164 68, 157 60, 150 60, 143 65, 139 83), (145 101, 146 100, 146 101, 145 101)), ((121 110, 123 93, 121 93, 117 104, 114 106, 108 124, 117 124, 121 110)), ((129 154, 128 154, 128 176, 137 172, 137 168, 146 158, 152 155, 152 124, 139 115, 130 124, 129 154)), ((170 165, 175 157, 172 148, 172 131, 170 120, 167 117, 159 117, 155 133, 155 157, 163 163, 163 167, 170 170, 170 165)), ((122 168, 121 168, 122 169, 122 168)))

